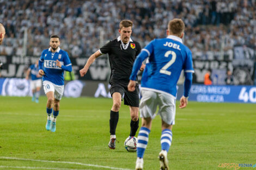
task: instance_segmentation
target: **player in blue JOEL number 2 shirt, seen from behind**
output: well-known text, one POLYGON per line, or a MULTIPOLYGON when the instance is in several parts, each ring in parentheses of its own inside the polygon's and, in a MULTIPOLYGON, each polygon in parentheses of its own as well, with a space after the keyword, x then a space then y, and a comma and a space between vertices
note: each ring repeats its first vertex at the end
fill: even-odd
POLYGON ((185 24, 175 18, 168 23, 167 38, 151 41, 135 60, 130 76, 128 90, 133 91, 136 75, 147 59, 141 80, 142 99, 139 111, 142 127, 138 134, 136 170, 143 169, 143 155, 149 140, 152 119, 159 106, 158 114, 162 118, 161 152, 159 153, 160 169, 168 170, 167 153, 172 143, 172 127, 175 124, 176 84, 182 70, 185 72, 184 95, 179 108, 187 105, 188 93, 192 84, 192 53, 182 43, 185 24))

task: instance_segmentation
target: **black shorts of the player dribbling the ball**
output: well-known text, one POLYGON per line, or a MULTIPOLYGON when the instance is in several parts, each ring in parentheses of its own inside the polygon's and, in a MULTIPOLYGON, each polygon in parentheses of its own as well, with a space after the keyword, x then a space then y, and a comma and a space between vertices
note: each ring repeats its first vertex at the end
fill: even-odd
POLYGON ((121 96, 124 95, 124 104, 132 107, 139 107, 139 87, 136 85, 135 91, 127 90, 127 85, 112 83, 109 89, 111 96, 114 92, 119 92, 121 96))

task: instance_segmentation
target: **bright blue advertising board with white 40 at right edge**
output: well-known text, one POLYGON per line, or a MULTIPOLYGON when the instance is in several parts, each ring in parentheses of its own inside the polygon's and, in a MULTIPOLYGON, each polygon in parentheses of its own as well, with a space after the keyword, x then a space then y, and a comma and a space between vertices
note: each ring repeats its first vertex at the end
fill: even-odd
MULTIPOLYGON (((183 94, 178 87, 178 98, 183 94)), ((189 100, 197 102, 256 103, 256 86, 205 86, 192 85, 189 100)))

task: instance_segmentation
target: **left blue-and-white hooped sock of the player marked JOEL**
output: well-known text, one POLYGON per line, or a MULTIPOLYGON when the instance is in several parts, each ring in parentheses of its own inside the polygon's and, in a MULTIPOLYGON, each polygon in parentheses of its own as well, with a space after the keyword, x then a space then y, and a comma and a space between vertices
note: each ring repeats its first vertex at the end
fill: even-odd
POLYGON ((147 148, 149 141, 150 130, 146 127, 141 127, 138 135, 138 147, 137 147, 137 157, 143 158, 145 149, 147 148))

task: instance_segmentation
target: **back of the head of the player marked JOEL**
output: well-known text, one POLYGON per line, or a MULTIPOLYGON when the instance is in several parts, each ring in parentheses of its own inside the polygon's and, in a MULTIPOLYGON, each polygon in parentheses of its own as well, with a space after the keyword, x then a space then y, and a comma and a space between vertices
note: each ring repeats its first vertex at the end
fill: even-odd
POLYGON ((183 37, 185 24, 181 19, 174 18, 168 23, 167 35, 175 35, 180 38, 183 37))

